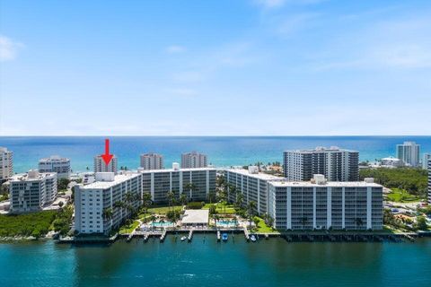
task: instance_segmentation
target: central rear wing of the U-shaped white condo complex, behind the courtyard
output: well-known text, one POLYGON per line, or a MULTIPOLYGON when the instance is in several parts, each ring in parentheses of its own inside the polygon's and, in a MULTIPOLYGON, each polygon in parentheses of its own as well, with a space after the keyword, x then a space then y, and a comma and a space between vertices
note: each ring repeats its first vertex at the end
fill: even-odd
POLYGON ((187 196, 189 201, 204 201, 216 192, 216 169, 180 169, 178 163, 170 170, 138 170, 142 173, 143 189, 151 194, 156 204, 167 203, 166 194, 172 191, 178 199, 187 196))

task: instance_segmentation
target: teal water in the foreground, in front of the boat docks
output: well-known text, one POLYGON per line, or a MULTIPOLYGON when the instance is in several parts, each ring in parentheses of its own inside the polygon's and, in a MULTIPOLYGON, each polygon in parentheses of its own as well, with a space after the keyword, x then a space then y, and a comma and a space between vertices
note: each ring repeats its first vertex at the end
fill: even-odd
POLYGON ((195 235, 117 242, 0 244, 1 286, 429 286, 431 239, 416 243, 246 243, 195 235))

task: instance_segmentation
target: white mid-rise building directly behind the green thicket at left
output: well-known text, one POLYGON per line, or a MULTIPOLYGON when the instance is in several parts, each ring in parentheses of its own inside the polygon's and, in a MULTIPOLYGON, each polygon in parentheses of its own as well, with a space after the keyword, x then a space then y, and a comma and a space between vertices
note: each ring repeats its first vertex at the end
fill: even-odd
POLYGON ((57 173, 30 170, 11 178, 12 213, 38 211, 57 197, 57 173))

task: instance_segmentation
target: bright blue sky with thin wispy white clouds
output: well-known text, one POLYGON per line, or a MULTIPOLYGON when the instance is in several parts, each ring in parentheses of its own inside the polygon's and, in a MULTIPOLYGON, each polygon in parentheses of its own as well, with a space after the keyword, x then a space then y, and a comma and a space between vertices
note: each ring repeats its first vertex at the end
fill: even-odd
POLYGON ((0 2, 0 135, 431 135, 431 1, 0 2))

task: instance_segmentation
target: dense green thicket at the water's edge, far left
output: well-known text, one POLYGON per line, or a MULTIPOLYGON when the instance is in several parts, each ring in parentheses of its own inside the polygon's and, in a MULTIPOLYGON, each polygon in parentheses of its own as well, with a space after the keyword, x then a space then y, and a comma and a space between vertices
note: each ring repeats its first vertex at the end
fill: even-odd
POLYGON ((0 215, 0 237, 34 236, 40 237, 50 230, 57 211, 42 211, 19 215, 0 215))

